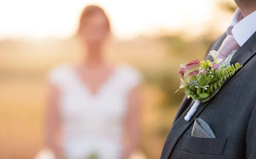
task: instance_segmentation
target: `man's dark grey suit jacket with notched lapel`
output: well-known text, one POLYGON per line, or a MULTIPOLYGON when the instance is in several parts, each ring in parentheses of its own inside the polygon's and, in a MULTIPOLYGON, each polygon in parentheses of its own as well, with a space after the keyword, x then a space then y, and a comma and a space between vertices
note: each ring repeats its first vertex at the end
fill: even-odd
MULTIPOLYGON (((209 51, 218 50, 225 37, 226 34, 222 35, 209 51)), ((212 99, 201 103, 189 122, 184 120, 184 116, 192 103, 188 99, 183 100, 160 159, 256 159, 255 54, 256 32, 231 60, 231 63, 239 62, 243 67, 224 83, 212 99), (187 109, 186 105, 189 105, 187 109), (192 137, 195 118, 207 122, 216 138, 192 137)))

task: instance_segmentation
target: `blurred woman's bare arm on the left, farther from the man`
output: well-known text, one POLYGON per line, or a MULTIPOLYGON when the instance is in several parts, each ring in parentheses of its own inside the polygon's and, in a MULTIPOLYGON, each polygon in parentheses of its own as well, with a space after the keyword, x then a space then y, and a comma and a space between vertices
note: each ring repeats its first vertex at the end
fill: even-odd
POLYGON ((63 159, 61 150, 61 122, 59 112, 59 90, 55 85, 49 84, 46 109, 46 142, 56 159, 63 159))

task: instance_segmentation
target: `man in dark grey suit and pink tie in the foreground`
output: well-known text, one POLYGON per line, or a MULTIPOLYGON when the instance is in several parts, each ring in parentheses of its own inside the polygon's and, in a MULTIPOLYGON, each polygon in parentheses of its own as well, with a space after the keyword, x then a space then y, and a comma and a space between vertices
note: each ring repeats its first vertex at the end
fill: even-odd
POLYGON ((230 63, 243 67, 189 121, 184 116, 194 102, 183 100, 160 159, 256 159, 256 0, 235 2, 227 33, 209 51, 225 59, 238 50, 230 63))

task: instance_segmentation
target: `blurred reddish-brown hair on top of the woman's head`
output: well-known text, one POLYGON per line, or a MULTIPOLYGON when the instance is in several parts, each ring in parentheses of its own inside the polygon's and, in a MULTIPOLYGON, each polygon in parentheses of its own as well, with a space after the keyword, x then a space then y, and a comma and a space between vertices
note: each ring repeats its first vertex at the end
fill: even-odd
MULTIPOLYGON (((89 5, 89 6, 86 6, 81 13, 77 33, 79 33, 81 31, 81 29, 84 27, 84 22, 86 23, 90 19, 90 17, 92 17, 93 14, 96 14, 96 13, 102 13, 105 16, 106 22, 107 22, 106 27, 108 28, 109 31, 111 30, 110 22, 109 22, 108 16, 105 13, 105 11, 99 6, 89 5)), ((86 26, 86 24, 85 24, 85 26, 86 26)))

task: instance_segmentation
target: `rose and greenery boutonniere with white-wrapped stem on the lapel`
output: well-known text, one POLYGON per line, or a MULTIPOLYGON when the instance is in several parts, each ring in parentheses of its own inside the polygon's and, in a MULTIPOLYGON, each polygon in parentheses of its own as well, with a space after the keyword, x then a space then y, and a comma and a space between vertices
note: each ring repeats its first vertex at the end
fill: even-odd
POLYGON ((221 65, 220 62, 223 59, 216 59, 218 52, 215 50, 209 53, 213 57, 212 62, 194 60, 188 64, 180 65, 178 72, 181 81, 180 88, 185 88, 187 97, 195 100, 194 105, 184 118, 186 121, 189 121, 195 114, 201 102, 207 102, 211 99, 219 91, 225 80, 242 67, 239 63, 230 65, 231 58, 235 53, 236 51, 233 51, 221 65))

